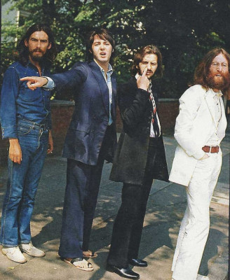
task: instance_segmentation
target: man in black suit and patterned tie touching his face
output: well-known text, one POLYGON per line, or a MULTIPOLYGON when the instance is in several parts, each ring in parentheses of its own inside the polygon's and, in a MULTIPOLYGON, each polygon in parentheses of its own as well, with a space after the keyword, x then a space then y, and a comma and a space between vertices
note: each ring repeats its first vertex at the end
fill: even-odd
POLYGON ((139 279, 128 265, 147 267, 138 258, 140 239, 153 179, 168 181, 161 125, 156 111, 153 77, 162 76, 161 52, 154 45, 134 57, 135 77, 119 87, 123 131, 111 170, 112 181, 123 182, 122 203, 114 222, 107 270, 139 279))

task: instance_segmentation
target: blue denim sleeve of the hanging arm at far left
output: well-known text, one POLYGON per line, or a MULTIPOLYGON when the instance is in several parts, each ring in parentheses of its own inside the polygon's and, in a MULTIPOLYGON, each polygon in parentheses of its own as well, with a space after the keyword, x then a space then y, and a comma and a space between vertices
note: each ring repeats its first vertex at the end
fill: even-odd
POLYGON ((15 68, 10 67, 4 74, 1 88, 1 132, 2 139, 18 138, 16 125, 16 98, 18 97, 19 77, 15 68))

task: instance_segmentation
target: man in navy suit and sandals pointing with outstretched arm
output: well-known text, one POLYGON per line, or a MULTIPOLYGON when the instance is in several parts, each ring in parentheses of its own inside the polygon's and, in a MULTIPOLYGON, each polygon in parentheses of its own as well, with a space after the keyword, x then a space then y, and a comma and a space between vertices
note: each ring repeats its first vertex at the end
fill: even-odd
POLYGON ((112 161, 116 148, 116 79, 109 61, 114 39, 106 29, 88 36, 88 62, 50 77, 25 77, 36 87, 74 89, 75 110, 69 125, 63 156, 67 158, 67 187, 62 217, 59 255, 75 267, 92 271, 83 257, 88 250, 104 160, 112 161))

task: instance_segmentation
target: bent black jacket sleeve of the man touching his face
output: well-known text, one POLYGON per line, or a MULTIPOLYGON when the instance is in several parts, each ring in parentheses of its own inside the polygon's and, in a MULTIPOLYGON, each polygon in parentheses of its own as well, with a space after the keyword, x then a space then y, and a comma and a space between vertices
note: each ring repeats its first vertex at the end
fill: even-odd
POLYGON ((119 87, 118 96, 123 125, 128 132, 135 131, 148 109, 149 92, 126 84, 119 87))

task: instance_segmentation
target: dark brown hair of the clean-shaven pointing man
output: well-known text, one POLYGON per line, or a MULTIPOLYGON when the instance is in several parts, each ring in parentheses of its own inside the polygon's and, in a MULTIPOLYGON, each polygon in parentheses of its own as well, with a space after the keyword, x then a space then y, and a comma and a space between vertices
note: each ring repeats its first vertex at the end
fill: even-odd
POLYGON ((110 57, 110 63, 112 64, 114 62, 114 56, 115 56, 115 41, 113 38, 113 35, 110 31, 104 28, 96 28, 88 33, 87 41, 86 41, 86 60, 91 61, 93 60, 93 51, 92 51, 92 45, 94 41, 94 36, 99 36, 102 40, 107 40, 111 44, 111 47, 113 48, 113 52, 111 52, 110 57))

